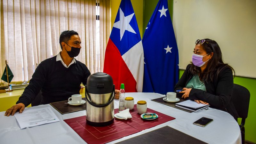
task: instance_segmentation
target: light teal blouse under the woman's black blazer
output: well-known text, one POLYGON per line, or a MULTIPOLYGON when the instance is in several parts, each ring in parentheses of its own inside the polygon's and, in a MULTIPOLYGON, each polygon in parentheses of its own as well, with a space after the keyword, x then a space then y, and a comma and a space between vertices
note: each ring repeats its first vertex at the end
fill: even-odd
POLYGON ((206 92, 204 82, 200 81, 198 75, 194 75, 186 85, 186 88, 200 89, 206 92))

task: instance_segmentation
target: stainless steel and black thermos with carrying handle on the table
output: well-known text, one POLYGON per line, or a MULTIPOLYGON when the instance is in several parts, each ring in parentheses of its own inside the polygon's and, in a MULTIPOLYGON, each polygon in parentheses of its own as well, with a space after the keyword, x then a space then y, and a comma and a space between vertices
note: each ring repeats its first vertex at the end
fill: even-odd
POLYGON ((86 123, 106 126, 114 122, 115 85, 106 73, 94 73, 85 85, 86 123))

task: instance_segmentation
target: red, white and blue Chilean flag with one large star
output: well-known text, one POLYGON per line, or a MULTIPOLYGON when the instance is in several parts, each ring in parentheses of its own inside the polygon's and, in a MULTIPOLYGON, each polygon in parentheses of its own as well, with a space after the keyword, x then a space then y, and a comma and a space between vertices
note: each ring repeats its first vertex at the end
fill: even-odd
POLYGON ((137 20, 130 0, 122 0, 105 53, 103 72, 113 78, 116 89, 142 92, 144 54, 137 20))

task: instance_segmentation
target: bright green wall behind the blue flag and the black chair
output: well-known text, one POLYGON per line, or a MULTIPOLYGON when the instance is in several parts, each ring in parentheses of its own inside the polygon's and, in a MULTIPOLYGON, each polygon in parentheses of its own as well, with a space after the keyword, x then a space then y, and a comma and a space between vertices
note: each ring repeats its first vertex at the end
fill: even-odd
MULTIPOLYGON (((157 3, 158 3, 158 0, 143 0, 143 35, 144 35, 145 28, 148 25, 148 21, 156 8, 157 3)), ((169 7, 169 12, 172 18, 173 0, 168 0, 168 7, 169 7)), ((180 70, 180 76, 183 74, 183 72, 184 70, 180 70)), ((256 130, 255 130, 256 115, 255 115, 255 112, 253 111, 256 109, 256 105, 255 105, 256 97, 254 97, 254 95, 256 95, 256 89, 255 89, 256 79, 236 76, 234 78, 234 83, 246 87, 251 93, 249 113, 245 121, 245 140, 249 140, 256 143, 256 130)), ((238 123, 240 122, 241 120, 238 119, 238 123)))

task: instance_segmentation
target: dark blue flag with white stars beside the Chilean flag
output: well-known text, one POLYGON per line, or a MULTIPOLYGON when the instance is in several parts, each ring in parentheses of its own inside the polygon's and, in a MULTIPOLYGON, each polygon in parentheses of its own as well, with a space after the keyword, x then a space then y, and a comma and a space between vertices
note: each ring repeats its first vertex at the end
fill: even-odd
POLYGON ((179 80, 179 53, 167 0, 159 0, 144 36, 143 92, 173 92, 179 80))

